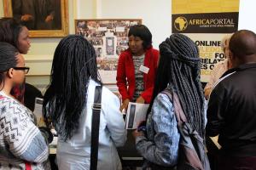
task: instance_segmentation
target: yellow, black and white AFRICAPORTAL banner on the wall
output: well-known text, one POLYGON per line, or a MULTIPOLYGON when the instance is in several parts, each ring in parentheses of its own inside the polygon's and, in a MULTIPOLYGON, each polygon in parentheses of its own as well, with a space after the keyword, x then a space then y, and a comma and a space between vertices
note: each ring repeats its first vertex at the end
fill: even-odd
POLYGON ((172 0, 172 33, 183 33, 199 48, 201 82, 225 59, 222 38, 237 31, 239 0, 172 0))

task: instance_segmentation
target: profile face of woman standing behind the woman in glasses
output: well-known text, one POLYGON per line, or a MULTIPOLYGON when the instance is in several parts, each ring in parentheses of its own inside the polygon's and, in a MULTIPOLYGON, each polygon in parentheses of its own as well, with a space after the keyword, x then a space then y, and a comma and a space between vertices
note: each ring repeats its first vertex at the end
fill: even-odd
POLYGON ((19 37, 18 37, 18 43, 17 48, 20 51, 20 54, 27 54, 29 48, 30 48, 30 39, 29 39, 29 33, 26 28, 26 26, 23 26, 19 37))

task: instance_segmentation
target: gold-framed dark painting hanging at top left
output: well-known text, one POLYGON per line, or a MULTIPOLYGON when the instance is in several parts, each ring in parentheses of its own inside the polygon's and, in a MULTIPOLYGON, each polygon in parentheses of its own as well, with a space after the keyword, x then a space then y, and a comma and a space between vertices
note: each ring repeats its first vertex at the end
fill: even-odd
POLYGON ((45 3, 42 5, 27 0, 3 0, 4 17, 14 17, 16 20, 19 20, 22 25, 29 29, 30 37, 67 36, 67 0, 45 0, 43 2, 45 3), (43 6, 44 8, 41 8, 43 6), (24 11, 27 11, 28 14, 25 14, 24 11))

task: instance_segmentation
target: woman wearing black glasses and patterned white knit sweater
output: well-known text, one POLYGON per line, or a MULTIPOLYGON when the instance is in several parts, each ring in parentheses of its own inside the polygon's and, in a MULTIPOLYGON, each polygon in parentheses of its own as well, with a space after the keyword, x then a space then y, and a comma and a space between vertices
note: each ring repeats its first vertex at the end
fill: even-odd
POLYGON ((28 71, 18 50, 0 42, 0 169, 50 169, 52 136, 46 128, 38 128, 32 112, 10 94, 28 71))

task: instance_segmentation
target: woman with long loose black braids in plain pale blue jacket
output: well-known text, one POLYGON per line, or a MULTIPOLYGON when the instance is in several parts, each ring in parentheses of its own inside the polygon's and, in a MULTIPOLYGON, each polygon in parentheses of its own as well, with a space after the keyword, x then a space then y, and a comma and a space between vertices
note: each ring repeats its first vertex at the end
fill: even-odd
MULTIPOLYGON (((44 94, 44 117, 58 133, 59 169, 90 169, 92 105, 96 86, 102 85, 96 52, 84 37, 64 37, 55 49, 49 88, 44 94)), ((125 144, 126 130, 119 99, 102 88, 98 169, 121 169, 116 147, 125 144)))

